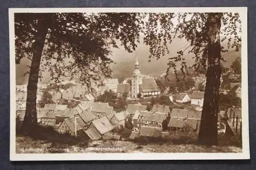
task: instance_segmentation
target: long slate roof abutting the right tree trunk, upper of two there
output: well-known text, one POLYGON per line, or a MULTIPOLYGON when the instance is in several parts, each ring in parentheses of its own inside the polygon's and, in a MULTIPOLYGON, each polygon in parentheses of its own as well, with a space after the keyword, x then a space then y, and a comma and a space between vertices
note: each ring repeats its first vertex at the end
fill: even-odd
POLYGON ((200 111, 192 111, 192 110, 186 110, 186 109, 173 109, 172 113, 170 113, 170 116, 172 117, 188 117, 188 118, 196 118, 201 119, 202 112, 200 111))

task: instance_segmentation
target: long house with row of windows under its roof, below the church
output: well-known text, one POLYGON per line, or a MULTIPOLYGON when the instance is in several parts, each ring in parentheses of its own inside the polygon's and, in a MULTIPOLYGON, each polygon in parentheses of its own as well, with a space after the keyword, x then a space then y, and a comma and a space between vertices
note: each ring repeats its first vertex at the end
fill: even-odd
POLYGON ((140 129, 141 126, 162 128, 162 123, 166 118, 166 113, 136 111, 133 116, 133 127, 136 129, 140 129))

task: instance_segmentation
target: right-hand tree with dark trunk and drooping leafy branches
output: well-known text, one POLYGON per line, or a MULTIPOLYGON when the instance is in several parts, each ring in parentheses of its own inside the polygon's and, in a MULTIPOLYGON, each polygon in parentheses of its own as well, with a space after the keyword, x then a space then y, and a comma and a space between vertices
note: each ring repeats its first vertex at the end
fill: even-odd
MULTIPOLYGON (((166 75, 173 70, 178 79, 178 73, 188 74, 188 68, 195 68, 205 74, 206 88, 202 110, 199 143, 205 145, 218 144, 217 115, 219 108, 219 88, 221 78, 221 53, 227 48, 241 45, 241 20, 238 13, 177 13, 177 14, 149 14, 147 35, 144 42, 150 46, 150 59, 159 59, 169 53, 167 44, 173 38, 187 40, 187 45, 177 51, 177 55, 169 58, 166 75), (174 23, 172 18, 177 18, 174 23), (159 29, 156 29, 159 28, 159 29), (151 29, 152 28, 152 29, 151 29), (166 31, 168 30, 168 31, 166 31), (222 36, 220 36, 222 34, 222 36), (220 38, 221 37, 221 38, 220 38), (221 42, 227 44, 227 48, 221 42), (188 66, 184 52, 193 54, 195 63, 188 66), (180 71, 177 65, 181 65, 180 71)), ((226 46, 225 44, 225 46, 226 46)))

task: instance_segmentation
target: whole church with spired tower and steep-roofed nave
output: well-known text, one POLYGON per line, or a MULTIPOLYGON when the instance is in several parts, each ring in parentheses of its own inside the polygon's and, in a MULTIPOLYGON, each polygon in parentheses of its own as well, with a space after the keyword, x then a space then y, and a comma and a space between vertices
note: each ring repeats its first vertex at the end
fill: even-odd
POLYGON ((141 74, 139 70, 138 57, 135 63, 135 70, 133 71, 131 87, 131 98, 139 98, 146 96, 154 96, 160 94, 159 87, 157 86, 154 78, 148 78, 141 74))

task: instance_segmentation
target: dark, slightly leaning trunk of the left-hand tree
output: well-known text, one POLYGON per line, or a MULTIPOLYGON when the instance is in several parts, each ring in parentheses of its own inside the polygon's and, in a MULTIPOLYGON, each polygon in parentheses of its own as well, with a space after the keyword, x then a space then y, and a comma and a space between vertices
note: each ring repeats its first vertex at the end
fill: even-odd
POLYGON ((42 49, 44 48, 44 43, 48 32, 47 26, 49 23, 47 23, 47 21, 47 17, 39 16, 37 28, 35 28, 37 32, 35 33, 35 42, 33 44, 33 58, 30 66, 27 86, 26 112, 22 125, 22 131, 27 133, 33 131, 33 127, 37 125, 36 92, 42 49))

